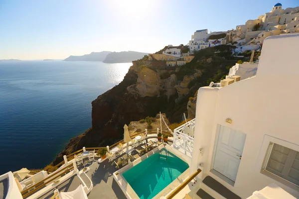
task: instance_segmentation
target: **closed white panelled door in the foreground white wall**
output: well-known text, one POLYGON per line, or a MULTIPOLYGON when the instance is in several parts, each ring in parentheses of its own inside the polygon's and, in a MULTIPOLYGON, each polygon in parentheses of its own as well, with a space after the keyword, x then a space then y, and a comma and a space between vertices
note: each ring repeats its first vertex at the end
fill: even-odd
POLYGON ((213 169, 235 182, 246 134, 220 125, 213 169))

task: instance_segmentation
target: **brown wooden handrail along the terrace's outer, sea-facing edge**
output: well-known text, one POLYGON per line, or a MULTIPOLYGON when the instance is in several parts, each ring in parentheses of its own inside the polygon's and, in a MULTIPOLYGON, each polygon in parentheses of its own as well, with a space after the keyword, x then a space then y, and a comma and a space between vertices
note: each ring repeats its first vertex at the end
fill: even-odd
MULTIPOLYGON (((146 132, 146 130, 143 130, 143 131, 141 131, 141 132, 136 132, 136 133, 133 133, 132 135, 130 135, 130 137, 131 137, 131 138, 134 138, 134 137, 136 137, 137 135, 140 135, 140 134, 145 133, 145 132, 146 132)), ((160 132, 160 131, 159 131, 159 132, 160 132)), ((156 130, 155 130, 155 129, 148 129, 148 133, 156 133, 156 130)), ((166 134, 166 135, 168 135, 168 136, 173 136, 173 135, 172 135, 171 133, 169 133, 168 131, 164 131, 164 130, 162 130, 162 133, 164 133, 164 134, 166 134)), ((114 143, 113 145, 109 146, 109 148, 113 148, 113 147, 119 145, 120 143, 124 144, 125 142, 124 142, 124 140, 120 140, 120 141, 114 143)), ((100 149, 100 148, 105 148, 105 147, 89 147, 89 148, 86 148, 86 150, 94 150, 94 149, 100 149)), ((72 160, 72 159, 74 159, 74 155, 75 155, 75 154, 76 154, 76 155, 80 155, 80 154, 81 154, 80 152, 83 153, 83 149, 80 149, 80 150, 75 151, 75 152, 73 152, 73 153, 71 153, 71 154, 68 154, 68 155, 66 156, 67 160, 72 160)), ((62 161, 62 162, 60 162, 59 164, 53 166, 53 167, 52 167, 51 169, 49 169, 47 172, 49 173, 50 171, 54 170, 55 168, 58 169, 59 166, 61 166, 61 165, 63 165, 63 164, 64 164, 64 161, 62 161)))

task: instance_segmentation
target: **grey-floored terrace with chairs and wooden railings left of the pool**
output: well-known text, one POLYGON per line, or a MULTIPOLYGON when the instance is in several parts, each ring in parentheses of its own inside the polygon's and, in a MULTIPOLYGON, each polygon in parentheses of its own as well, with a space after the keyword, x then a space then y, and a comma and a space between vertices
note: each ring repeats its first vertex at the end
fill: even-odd
MULTIPOLYGON (((128 158, 127 164, 138 160, 141 156, 164 143, 163 139, 157 139, 157 131, 142 131, 131 135, 131 139, 134 139, 139 135, 146 134, 143 143, 141 145, 134 146, 134 149, 136 150, 132 150, 130 153, 131 156, 128 158), (156 144, 151 145, 150 148, 144 149, 145 146, 149 146, 147 143, 156 144), (141 151, 142 153, 140 153, 141 151)), ((162 133, 169 136, 166 143, 172 145, 172 134, 166 131, 162 131, 162 133)), ((127 150, 127 143, 124 143, 123 140, 110 146, 109 149, 112 150, 113 148, 120 146, 120 144, 123 145, 123 151, 127 150)), ((129 149, 132 149, 131 144, 132 143, 130 142, 129 149)), ((113 178, 113 173, 118 171, 124 165, 117 166, 116 162, 110 160, 108 156, 106 156, 105 159, 102 159, 96 154, 94 156, 94 160, 83 161, 83 164, 78 164, 74 158, 74 155, 80 157, 80 155, 86 151, 92 153, 100 148, 104 147, 84 147, 83 149, 69 154, 68 156, 64 156, 63 162, 59 163, 47 172, 31 172, 25 180, 20 182, 20 184, 35 179, 34 184, 25 187, 23 190, 16 190, 19 191, 21 197, 24 199, 56 199, 57 196, 54 196, 54 190, 58 190, 59 192, 72 192, 75 191, 81 184, 88 196, 88 199, 126 199, 127 197, 113 178)), ((128 156, 127 153, 122 153, 116 157, 116 159, 122 157, 124 157, 123 159, 126 159, 126 156, 128 156)), ((3 182, 5 182, 5 180, 3 182)))

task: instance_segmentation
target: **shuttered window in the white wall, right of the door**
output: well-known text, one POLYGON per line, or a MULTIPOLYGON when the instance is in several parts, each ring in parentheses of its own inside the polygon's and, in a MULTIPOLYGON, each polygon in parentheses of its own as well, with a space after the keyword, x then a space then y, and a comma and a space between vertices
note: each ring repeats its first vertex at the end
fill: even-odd
POLYGON ((266 170, 299 186, 299 152, 273 143, 266 170))

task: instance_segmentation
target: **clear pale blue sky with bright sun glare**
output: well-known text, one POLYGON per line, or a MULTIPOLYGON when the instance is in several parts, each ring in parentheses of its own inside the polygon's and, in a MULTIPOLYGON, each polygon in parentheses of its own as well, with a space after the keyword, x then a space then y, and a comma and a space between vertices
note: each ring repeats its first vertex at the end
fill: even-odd
MULTIPOLYGON (((90 52, 153 53, 269 12, 276 0, 0 0, 0 59, 64 59, 90 52)), ((283 8, 298 0, 280 1, 283 8)))

